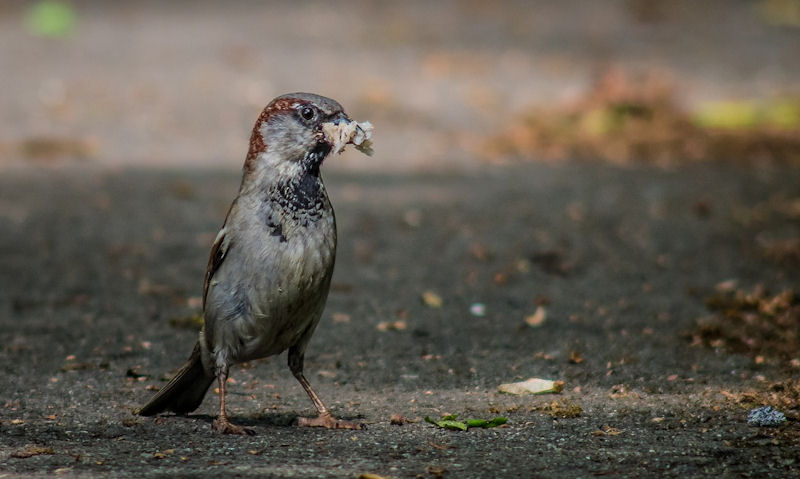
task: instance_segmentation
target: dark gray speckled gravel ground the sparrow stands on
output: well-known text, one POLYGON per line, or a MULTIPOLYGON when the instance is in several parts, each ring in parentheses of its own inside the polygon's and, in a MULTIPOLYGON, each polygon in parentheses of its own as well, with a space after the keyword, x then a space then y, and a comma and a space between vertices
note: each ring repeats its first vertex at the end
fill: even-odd
POLYGON ((234 368, 232 418, 257 435, 225 437, 211 430, 213 392, 188 417, 131 411, 190 352, 194 332, 173 324, 197 312, 238 173, 4 174, 0 475, 786 476, 794 416, 748 426, 726 392, 797 371, 690 346, 684 333, 718 282, 797 284, 757 242, 792 226, 740 220, 796 194, 796 175, 592 164, 331 174, 340 249, 306 370, 337 415, 368 428, 294 426, 313 408, 282 355, 234 368), (534 328, 524 319, 539 305, 534 328), (496 392, 529 377, 563 380, 564 392, 496 392), (551 417, 553 401, 582 412, 551 417), (445 413, 508 424, 421 420, 445 413), (392 414, 418 422, 391 425, 392 414))

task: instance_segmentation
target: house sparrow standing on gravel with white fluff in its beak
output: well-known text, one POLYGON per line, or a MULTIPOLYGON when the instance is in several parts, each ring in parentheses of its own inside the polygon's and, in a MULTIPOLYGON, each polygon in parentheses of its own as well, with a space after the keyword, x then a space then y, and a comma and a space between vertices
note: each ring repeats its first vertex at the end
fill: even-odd
POLYGON ((347 144, 371 153, 371 131, 336 101, 310 93, 282 95, 264 108, 250 137, 239 194, 211 248, 197 344, 140 415, 191 412, 216 378, 214 429, 252 434, 228 419, 230 366, 288 349, 289 369, 319 413, 298 423, 361 428, 331 415, 303 375, 303 355, 325 306, 336 255, 336 222, 320 166, 347 144))

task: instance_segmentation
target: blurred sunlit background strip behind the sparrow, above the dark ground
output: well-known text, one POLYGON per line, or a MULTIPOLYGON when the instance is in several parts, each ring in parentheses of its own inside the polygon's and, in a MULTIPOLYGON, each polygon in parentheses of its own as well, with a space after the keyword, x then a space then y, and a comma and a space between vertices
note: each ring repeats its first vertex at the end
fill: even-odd
POLYGON ((0 171, 239 168, 276 95, 376 126, 412 171, 796 161, 800 0, 0 4, 0 171))

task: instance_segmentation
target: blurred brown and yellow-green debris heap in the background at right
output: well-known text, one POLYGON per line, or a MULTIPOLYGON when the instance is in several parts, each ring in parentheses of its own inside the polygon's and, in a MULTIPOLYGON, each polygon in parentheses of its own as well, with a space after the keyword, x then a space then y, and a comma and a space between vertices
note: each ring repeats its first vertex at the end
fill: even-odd
POLYGON ((589 159, 674 166, 700 160, 800 164, 800 100, 725 101, 688 111, 663 72, 609 68, 569 105, 533 108, 489 140, 494 162, 589 159))

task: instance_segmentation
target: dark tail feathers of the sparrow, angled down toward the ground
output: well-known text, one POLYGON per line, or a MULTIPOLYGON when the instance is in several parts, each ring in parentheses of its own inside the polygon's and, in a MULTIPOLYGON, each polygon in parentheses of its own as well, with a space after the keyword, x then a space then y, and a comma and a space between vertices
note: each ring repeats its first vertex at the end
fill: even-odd
POLYGON ((197 343, 186 364, 137 414, 153 416, 163 411, 186 414, 197 409, 214 382, 214 377, 206 374, 200 354, 200 343, 197 343))

